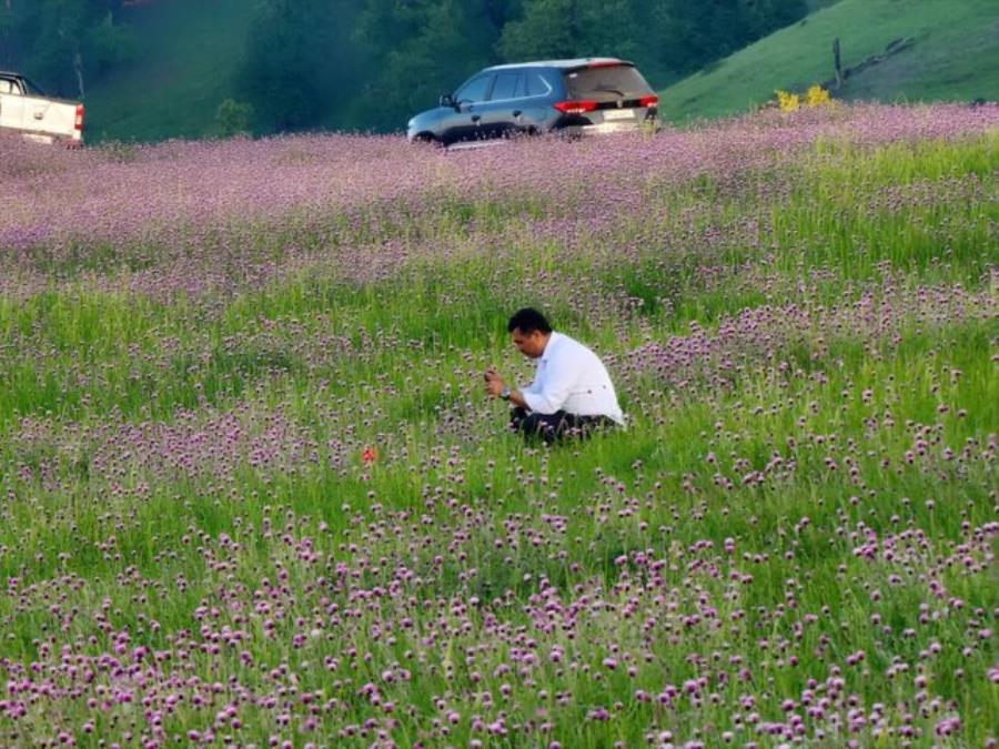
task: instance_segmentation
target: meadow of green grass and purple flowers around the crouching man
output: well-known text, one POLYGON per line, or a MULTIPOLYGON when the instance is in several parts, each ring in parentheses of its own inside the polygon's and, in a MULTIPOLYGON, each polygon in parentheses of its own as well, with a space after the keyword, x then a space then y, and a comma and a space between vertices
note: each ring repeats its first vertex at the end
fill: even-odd
POLYGON ((991 746, 997 125, 6 141, 0 745, 991 746))

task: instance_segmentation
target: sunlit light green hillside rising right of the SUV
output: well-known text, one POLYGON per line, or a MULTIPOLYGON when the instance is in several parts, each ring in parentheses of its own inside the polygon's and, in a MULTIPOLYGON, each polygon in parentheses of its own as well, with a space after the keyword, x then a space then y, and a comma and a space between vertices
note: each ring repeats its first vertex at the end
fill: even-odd
POLYGON ((842 67, 915 43, 847 80, 840 99, 935 101, 999 99, 999 16, 991 0, 840 0, 820 8, 663 92, 667 119, 733 114, 775 89, 804 90, 834 77, 833 40, 842 67))

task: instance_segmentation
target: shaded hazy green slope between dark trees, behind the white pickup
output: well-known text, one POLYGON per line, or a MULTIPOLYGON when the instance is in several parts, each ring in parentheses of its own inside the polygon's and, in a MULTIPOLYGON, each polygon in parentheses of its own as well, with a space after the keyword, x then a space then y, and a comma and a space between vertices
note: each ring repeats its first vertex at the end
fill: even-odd
POLYGON ((167 0, 125 11, 141 64, 87 95, 87 136, 155 141, 202 138, 232 95, 254 0, 167 0))

